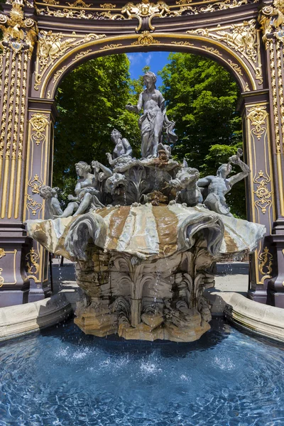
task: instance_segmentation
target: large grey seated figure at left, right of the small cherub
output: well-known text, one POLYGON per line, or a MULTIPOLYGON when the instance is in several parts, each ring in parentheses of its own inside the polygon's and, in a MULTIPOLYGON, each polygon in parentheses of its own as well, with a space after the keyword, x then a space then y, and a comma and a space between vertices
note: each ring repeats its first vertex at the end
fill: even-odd
POLYGON ((84 161, 75 164, 78 178, 83 178, 83 180, 77 182, 75 196, 68 195, 70 203, 59 217, 77 216, 87 212, 92 207, 104 207, 104 204, 99 200, 99 182, 102 182, 104 178, 107 179, 112 173, 98 161, 93 161, 92 166, 95 169, 94 175, 90 173, 91 166, 84 161), (99 170, 102 170, 102 172, 99 172, 99 170))

